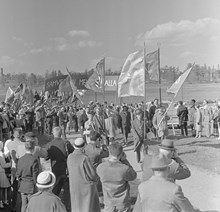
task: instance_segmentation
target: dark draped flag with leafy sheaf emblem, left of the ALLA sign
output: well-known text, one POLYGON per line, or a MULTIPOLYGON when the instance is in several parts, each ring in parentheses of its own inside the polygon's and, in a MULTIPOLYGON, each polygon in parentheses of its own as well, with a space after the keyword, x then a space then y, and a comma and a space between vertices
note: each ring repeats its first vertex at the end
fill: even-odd
POLYGON ((93 70, 92 75, 87 80, 85 87, 95 92, 103 92, 104 80, 105 80, 105 58, 101 59, 97 63, 96 68, 95 70, 93 70))

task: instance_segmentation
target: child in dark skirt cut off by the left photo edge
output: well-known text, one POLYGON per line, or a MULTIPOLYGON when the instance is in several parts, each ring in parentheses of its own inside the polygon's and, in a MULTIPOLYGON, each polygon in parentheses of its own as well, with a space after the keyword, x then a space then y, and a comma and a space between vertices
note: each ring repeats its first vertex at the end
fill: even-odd
POLYGON ((6 176, 5 169, 11 167, 11 162, 5 162, 3 153, 3 142, 0 141, 0 208, 9 204, 10 182, 6 176))

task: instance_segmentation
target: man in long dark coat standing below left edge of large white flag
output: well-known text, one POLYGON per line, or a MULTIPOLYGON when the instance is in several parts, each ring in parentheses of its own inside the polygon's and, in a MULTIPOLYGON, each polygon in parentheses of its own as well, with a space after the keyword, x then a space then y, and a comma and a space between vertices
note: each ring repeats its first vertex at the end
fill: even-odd
POLYGON ((130 133, 131 130, 131 114, 128 111, 128 107, 126 105, 122 107, 120 116, 122 121, 122 133, 124 135, 124 144, 127 145, 128 134, 130 133))

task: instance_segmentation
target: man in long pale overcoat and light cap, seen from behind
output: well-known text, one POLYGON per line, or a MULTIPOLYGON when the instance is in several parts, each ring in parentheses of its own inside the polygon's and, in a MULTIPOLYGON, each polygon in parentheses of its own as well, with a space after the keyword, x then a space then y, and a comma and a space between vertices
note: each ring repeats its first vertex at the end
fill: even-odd
POLYGON ((100 212, 96 187, 98 176, 88 156, 84 153, 85 141, 77 138, 75 151, 68 156, 71 211, 100 212))

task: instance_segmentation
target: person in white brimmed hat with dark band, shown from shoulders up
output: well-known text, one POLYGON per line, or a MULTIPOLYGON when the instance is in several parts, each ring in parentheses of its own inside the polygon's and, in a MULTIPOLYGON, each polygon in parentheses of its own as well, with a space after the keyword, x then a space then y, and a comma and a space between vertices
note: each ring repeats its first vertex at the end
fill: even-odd
POLYGON ((60 198, 51 191, 55 182, 51 171, 43 171, 37 176, 38 192, 30 197, 26 212, 66 212, 60 198))

